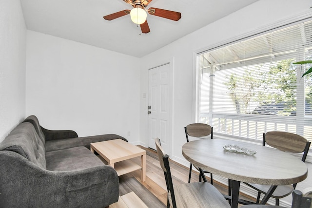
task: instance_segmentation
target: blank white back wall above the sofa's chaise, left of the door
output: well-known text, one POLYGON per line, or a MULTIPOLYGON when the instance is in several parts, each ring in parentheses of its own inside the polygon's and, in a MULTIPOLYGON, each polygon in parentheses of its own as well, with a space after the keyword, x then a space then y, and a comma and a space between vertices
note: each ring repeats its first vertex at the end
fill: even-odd
POLYGON ((138 66, 136 57, 27 31, 26 115, 47 129, 138 143, 138 66))

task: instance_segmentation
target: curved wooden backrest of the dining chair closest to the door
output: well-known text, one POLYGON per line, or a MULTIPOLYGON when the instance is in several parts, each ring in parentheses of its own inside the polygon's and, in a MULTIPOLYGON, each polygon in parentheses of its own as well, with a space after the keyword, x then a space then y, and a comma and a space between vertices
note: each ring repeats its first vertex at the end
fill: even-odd
POLYGON ((213 132, 214 127, 211 127, 208 124, 202 124, 202 123, 194 123, 189 124, 186 127, 184 127, 186 140, 189 142, 188 136, 194 136, 194 137, 203 137, 208 136, 211 134, 211 139, 213 138, 213 132))

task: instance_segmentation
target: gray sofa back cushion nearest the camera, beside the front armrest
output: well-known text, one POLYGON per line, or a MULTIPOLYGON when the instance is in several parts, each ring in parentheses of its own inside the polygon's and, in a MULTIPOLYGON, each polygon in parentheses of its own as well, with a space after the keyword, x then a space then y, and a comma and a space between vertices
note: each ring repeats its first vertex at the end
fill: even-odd
POLYGON ((0 151, 2 150, 15 151, 39 167, 46 169, 45 147, 31 123, 20 123, 13 129, 0 143, 0 151))

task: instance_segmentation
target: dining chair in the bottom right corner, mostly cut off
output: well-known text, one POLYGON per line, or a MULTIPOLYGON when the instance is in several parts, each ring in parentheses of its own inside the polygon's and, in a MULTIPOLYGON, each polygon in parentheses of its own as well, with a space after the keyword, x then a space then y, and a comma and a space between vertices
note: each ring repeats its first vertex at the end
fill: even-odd
MULTIPOLYGON (((294 190, 292 194, 292 208, 311 208, 311 197, 305 196, 300 190, 294 190)), ((284 208, 273 205, 244 205, 241 208, 284 208)))

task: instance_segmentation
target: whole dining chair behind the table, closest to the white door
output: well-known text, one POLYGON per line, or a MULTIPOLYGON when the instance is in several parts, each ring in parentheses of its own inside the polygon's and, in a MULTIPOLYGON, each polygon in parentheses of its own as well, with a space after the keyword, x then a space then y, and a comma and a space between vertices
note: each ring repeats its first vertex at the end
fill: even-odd
MULTIPOLYGON (((212 127, 208 124, 202 124, 202 123, 189 124, 186 127, 184 127, 184 130, 185 130, 185 136, 186 136, 187 142, 189 142, 189 136, 203 137, 203 136, 211 135, 210 138, 212 139, 213 133, 214 133, 214 127, 212 127)), ((191 163, 190 173, 189 173, 189 183, 191 182, 192 166, 193 166, 193 164, 191 163)), ((196 166, 194 166, 194 167, 196 170, 198 170, 198 168, 196 166)), ((203 172, 204 173, 210 173, 210 172, 205 171, 205 170, 203 170, 203 172)), ((199 181, 201 181, 202 177, 205 177, 205 175, 199 174, 199 181)), ((213 184, 213 174, 212 173, 210 173, 210 183, 213 184)))

